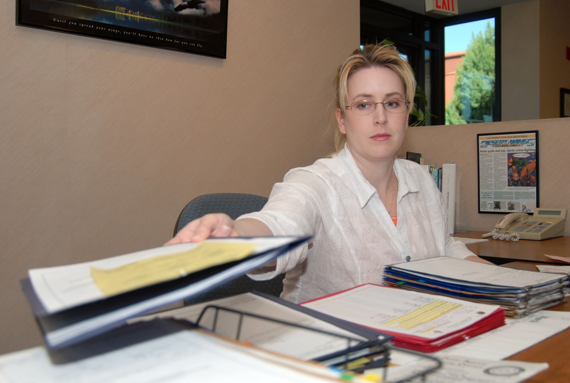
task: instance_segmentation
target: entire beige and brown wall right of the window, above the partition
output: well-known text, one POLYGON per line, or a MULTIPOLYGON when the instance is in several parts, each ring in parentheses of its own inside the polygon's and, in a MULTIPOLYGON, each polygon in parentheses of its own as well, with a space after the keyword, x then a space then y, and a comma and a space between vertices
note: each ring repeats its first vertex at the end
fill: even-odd
POLYGON ((570 88, 568 20, 568 0, 501 7, 503 121, 560 117, 560 88, 570 88))

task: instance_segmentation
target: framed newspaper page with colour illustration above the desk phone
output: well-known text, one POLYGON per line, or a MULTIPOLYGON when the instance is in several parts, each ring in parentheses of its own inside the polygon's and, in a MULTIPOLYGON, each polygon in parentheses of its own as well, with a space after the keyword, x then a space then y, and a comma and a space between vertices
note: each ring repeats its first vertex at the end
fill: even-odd
POLYGON ((538 131, 477 135, 479 213, 539 207, 538 131))

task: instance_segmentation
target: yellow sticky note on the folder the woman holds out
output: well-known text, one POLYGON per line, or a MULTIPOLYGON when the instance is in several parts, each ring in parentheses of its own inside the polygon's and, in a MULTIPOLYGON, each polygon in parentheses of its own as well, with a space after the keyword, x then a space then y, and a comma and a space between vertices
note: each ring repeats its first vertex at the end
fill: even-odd
POLYGON ((109 270, 91 267, 91 274, 103 294, 112 296, 243 259, 254 248, 252 243, 203 242, 192 250, 143 259, 109 270))

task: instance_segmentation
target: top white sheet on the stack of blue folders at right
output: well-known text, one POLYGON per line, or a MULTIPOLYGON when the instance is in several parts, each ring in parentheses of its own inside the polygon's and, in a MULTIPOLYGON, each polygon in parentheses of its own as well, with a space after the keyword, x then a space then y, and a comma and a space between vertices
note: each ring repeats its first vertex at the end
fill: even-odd
POLYGON ((523 288, 540 284, 555 283, 560 277, 556 275, 541 274, 528 270, 495 266, 480 262, 471 262, 465 259, 439 256, 414 262, 398 263, 393 265, 396 270, 405 270, 430 275, 437 280, 453 279, 457 283, 488 284, 490 286, 506 286, 523 288))

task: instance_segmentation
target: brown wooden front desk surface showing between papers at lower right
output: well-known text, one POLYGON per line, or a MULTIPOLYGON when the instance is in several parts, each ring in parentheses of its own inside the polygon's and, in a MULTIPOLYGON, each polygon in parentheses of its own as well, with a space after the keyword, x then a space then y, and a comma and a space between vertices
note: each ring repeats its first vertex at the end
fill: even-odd
MULTIPOLYGON (((518 268, 520 270, 536 271, 535 263, 512 262, 503 264, 502 266, 518 268)), ((570 311, 570 303, 566 302, 556 307, 551 307, 548 310, 570 311)), ((551 336, 548 339, 541 341, 539 344, 527 348, 526 350, 523 350, 507 359, 520 360, 524 362, 548 362, 549 368, 526 380, 527 383, 566 383, 570 380, 568 345, 570 345, 570 328, 565 329, 564 331, 557 333, 555 336, 551 336)))

